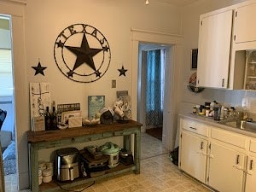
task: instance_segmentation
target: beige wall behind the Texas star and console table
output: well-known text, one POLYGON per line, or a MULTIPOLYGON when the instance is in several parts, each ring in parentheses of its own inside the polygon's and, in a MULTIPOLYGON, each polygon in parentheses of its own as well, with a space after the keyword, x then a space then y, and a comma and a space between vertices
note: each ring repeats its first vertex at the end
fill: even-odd
MULTIPOLYGON (((80 102, 83 116, 86 116, 87 96, 105 95, 106 106, 113 106, 117 90, 128 90, 131 94, 131 28, 181 33, 180 9, 153 1, 146 6, 143 1, 137 0, 27 0, 24 7, 26 62, 15 61, 15 66, 21 68, 15 72, 19 81, 16 84, 22 84, 25 88, 24 93, 17 89, 18 92, 15 94, 16 100, 20 101, 20 107, 16 108, 16 118, 23 118, 26 121, 17 124, 20 189, 28 187, 25 132, 30 130, 28 105, 30 82, 49 82, 52 100, 57 104, 80 102), (110 45, 112 58, 108 72, 94 83, 73 82, 64 77, 55 65, 53 55, 55 39, 64 28, 76 23, 95 26, 108 39, 110 45), (38 58, 42 66, 47 67, 44 76, 41 74, 34 76, 35 71, 32 67, 38 65, 38 58), (122 65, 128 69, 126 77, 119 77, 118 69, 122 65), (111 88, 112 79, 117 80, 116 89, 111 88)), ((47 153, 43 150, 40 157, 47 153)))

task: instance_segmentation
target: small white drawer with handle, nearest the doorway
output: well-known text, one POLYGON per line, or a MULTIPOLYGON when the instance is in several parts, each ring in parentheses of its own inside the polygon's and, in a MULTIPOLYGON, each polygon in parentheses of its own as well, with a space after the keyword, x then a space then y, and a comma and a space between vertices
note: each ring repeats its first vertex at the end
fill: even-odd
POLYGON ((207 125, 201 124, 194 120, 181 119, 181 127, 184 130, 192 131, 202 136, 208 137, 208 127, 207 125))

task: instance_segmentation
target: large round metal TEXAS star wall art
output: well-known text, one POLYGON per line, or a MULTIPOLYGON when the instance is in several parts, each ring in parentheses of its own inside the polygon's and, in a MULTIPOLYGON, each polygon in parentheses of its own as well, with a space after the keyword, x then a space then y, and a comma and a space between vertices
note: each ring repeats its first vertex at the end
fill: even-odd
POLYGON ((96 27, 67 26, 55 40, 55 63, 68 79, 90 83, 108 71, 111 52, 107 38, 96 27))

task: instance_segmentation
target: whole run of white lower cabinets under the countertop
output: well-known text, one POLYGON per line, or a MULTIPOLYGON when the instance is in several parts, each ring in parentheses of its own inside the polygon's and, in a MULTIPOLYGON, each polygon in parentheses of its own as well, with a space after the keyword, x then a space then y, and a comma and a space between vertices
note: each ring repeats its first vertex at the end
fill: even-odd
POLYGON ((199 120, 180 121, 179 168, 219 192, 256 191, 256 139, 199 120))

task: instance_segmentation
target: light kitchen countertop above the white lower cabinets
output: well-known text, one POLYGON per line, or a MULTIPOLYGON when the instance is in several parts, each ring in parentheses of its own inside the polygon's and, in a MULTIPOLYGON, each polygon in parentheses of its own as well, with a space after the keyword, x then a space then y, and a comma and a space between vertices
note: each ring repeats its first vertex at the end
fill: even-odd
POLYGON ((197 115, 197 114, 194 114, 194 113, 179 113, 179 117, 192 119, 192 120, 199 121, 199 122, 207 124, 207 125, 212 125, 214 127, 218 127, 218 128, 227 130, 227 131, 233 131, 233 132, 245 135, 245 136, 256 138, 256 130, 255 131, 242 130, 240 128, 235 128, 235 127, 230 126, 230 125, 224 125, 224 124, 218 123, 218 121, 216 121, 216 120, 214 120, 210 117, 201 116, 201 115, 197 115))

